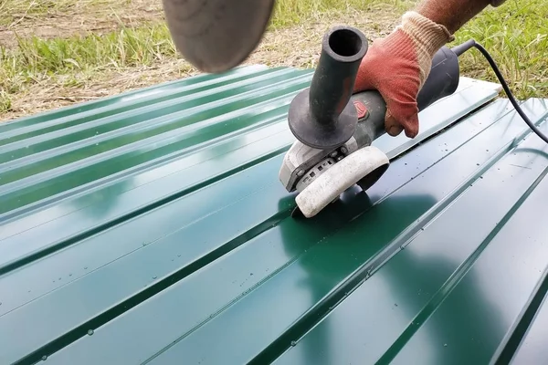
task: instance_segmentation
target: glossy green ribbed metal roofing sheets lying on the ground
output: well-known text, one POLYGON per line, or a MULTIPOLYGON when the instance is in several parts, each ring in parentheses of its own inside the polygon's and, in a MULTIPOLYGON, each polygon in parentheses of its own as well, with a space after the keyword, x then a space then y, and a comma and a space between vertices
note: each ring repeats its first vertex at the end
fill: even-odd
POLYGON ((374 141, 392 165, 367 194, 295 220, 278 172, 311 76, 248 66, 1 123, 0 363, 542 359, 548 147, 499 86, 462 78, 416 139, 374 141))

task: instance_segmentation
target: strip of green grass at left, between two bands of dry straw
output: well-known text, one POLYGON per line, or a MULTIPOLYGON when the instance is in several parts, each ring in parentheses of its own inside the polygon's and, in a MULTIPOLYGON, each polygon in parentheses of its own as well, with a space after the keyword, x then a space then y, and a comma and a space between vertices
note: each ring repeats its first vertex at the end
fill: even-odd
POLYGON ((18 47, 0 47, 0 112, 10 106, 9 94, 26 84, 72 73, 150 65, 176 57, 174 44, 163 24, 122 28, 106 35, 71 36, 49 40, 19 39, 18 47), (4 99, 4 102, 2 101, 4 99))

